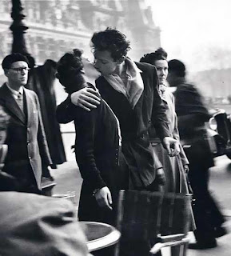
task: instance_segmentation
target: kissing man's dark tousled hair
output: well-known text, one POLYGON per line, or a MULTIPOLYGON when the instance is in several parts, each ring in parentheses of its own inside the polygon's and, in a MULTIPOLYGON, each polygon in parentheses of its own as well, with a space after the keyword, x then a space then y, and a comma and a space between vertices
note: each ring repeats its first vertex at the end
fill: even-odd
POLYGON ((107 27, 106 30, 95 32, 91 38, 91 47, 95 50, 108 50, 114 61, 119 60, 122 56, 126 56, 130 42, 126 39, 125 34, 107 27))

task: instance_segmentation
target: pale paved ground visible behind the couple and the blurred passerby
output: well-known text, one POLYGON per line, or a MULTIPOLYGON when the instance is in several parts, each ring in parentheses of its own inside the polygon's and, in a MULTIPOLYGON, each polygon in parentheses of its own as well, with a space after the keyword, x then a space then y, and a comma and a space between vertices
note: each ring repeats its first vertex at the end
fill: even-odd
MULTIPOLYGON (((58 170, 52 170, 52 175, 56 179, 57 186, 54 187, 54 194, 66 194, 74 191, 76 196, 74 203, 78 206, 79 192, 82 178, 78 167, 74 161, 74 154, 68 156, 69 162, 65 162, 58 167, 58 170)), ((216 158, 216 166, 210 170, 211 178, 209 187, 213 191, 214 197, 221 205, 221 209, 226 216, 225 226, 229 234, 218 238, 217 248, 210 250, 189 250, 188 256, 230 256, 231 255, 231 160, 226 156, 216 158)), ((190 234, 193 241, 193 234, 190 234)), ((166 255, 168 253, 166 252, 166 255)), ((163 255, 165 256, 165 254, 163 255)))

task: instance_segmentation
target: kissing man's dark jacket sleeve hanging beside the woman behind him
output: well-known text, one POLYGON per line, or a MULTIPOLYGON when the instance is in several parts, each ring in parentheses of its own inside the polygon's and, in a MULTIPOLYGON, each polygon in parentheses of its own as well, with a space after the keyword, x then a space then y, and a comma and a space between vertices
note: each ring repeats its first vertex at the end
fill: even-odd
POLYGON ((165 114, 165 104, 161 100, 161 96, 158 93, 158 78, 157 70, 153 67, 153 111, 152 122, 156 129, 157 136, 161 139, 170 137, 170 131, 168 126, 168 119, 165 114))

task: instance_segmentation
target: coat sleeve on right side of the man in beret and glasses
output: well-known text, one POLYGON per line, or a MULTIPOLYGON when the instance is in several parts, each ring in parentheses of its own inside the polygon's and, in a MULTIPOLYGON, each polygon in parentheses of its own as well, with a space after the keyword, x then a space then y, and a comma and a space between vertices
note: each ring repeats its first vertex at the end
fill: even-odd
POLYGON ((50 166, 52 164, 50 158, 50 152, 46 141, 46 134, 42 122, 42 114, 40 109, 40 104, 38 101, 38 96, 34 94, 35 102, 38 107, 38 147, 39 153, 42 159, 42 166, 50 166))

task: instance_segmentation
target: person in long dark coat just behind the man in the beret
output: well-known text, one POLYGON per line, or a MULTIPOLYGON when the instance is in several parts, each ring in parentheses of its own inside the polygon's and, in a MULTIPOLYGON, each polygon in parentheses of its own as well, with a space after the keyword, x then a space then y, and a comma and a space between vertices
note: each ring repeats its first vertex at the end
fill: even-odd
MULTIPOLYGON (((54 169, 57 168, 57 165, 66 162, 62 134, 56 119, 57 104, 54 93, 56 65, 56 62, 47 59, 42 66, 32 68, 26 84, 27 89, 34 90, 38 95, 46 141, 53 163, 52 168, 54 169)), ((49 177, 50 175, 47 174, 46 176, 49 177)))

